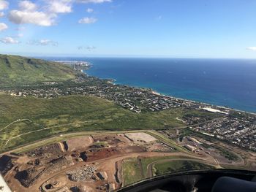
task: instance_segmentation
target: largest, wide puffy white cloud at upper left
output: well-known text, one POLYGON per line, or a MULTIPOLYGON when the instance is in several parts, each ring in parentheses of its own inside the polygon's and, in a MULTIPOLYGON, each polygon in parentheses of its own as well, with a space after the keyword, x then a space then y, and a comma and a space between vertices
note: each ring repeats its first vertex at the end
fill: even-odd
POLYGON ((8 17, 16 24, 31 23, 38 26, 53 26, 56 15, 39 11, 12 10, 8 17))

